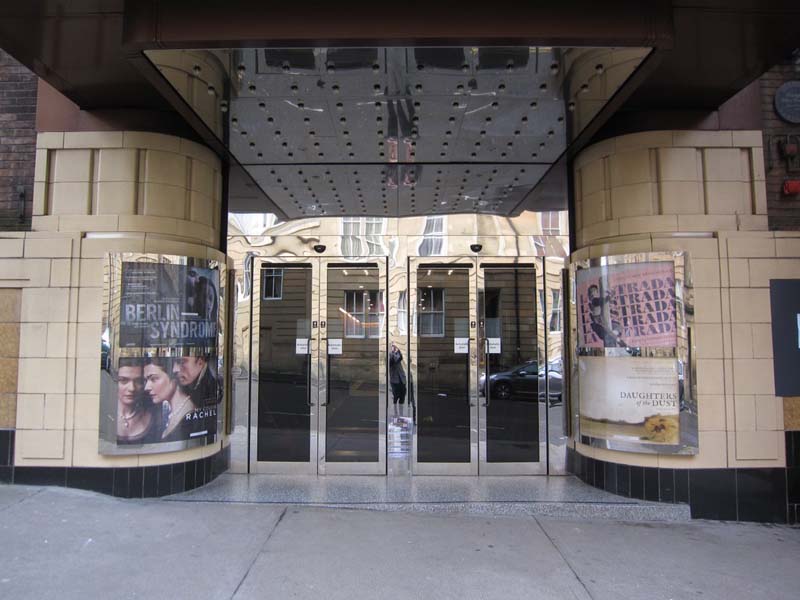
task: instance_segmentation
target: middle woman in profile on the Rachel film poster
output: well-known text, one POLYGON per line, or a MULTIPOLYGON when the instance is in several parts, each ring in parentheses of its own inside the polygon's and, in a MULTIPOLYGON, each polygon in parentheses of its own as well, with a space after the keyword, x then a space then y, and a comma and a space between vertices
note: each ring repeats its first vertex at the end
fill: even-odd
POLYGON ((144 389, 153 404, 169 404, 169 419, 161 435, 164 442, 188 439, 189 434, 197 429, 196 421, 202 424, 202 419, 192 419, 197 407, 178 385, 177 378, 172 374, 172 362, 169 358, 151 357, 145 359, 144 366, 144 389))

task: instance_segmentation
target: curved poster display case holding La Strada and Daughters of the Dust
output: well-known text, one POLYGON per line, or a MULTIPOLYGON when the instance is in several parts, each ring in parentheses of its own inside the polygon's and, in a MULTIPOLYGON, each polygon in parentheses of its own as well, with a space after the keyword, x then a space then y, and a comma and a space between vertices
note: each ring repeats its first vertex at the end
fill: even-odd
POLYGON ((691 269, 684 252, 573 262, 576 439, 597 448, 696 454, 691 269))

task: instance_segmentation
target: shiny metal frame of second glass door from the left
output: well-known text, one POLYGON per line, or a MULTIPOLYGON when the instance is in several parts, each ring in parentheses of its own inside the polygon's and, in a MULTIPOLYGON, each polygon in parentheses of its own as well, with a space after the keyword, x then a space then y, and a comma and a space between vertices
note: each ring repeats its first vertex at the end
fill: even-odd
POLYGON ((347 263, 347 268, 363 268, 364 264, 378 265, 379 291, 383 295, 384 315, 378 338, 378 461, 377 462, 329 462, 326 460, 326 424, 330 390, 328 389, 328 268, 334 264, 343 265, 342 258, 319 259, 319 352, 317 354, 317 389, 319 390, 319 437, 318 471, 320 475, 385 475, 386 474, 386 393, 387 393, 387 326, 388 326, 388 259, 370 257, 363 263, 347 263))

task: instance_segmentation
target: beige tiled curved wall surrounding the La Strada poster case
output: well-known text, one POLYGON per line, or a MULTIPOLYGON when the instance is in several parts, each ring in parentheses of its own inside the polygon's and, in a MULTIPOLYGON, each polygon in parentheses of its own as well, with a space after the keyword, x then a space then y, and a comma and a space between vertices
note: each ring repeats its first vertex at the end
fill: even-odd
POLYGON ((694 283, 700 453, 582 453, 663 467, 785 464, 769 281, 800 278, 800 232, 767 231, 761 134, 655 131, 606 140, 575 162, 573 258, 685 250, 694 283))

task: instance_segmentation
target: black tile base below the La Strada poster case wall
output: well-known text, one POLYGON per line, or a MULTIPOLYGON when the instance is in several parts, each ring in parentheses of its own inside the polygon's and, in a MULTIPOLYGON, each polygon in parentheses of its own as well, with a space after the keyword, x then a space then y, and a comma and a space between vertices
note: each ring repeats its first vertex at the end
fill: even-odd
POLYGON ((596 460, 572 448, 567 465, 581 481, 619 496, 689 504, 694 519, 795 524, 800 520, 800 456, 792 454, 799 449, 800 432, 787 432, 790 466, 785 469, 639 467, 596 460))

